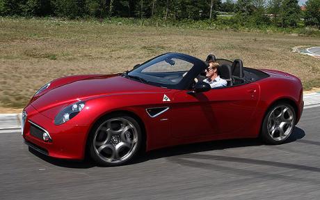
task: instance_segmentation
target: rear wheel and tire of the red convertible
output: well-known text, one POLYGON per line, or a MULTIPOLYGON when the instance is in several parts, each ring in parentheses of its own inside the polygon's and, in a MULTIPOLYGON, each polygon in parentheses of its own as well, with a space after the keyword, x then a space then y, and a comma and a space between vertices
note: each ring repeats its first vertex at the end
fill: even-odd
POLYGON ((294 130, 296 112, 285 103, 271 106, 264 116, 260 137, 266 144, 282 144, 294 130))

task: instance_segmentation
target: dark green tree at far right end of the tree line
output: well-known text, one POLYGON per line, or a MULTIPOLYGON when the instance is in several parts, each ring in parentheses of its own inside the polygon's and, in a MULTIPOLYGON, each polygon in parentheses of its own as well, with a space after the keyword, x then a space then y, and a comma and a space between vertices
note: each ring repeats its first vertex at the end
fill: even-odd
POLYGON ((307 1, 305 8, 305 24, 320 28, 320 0, 307 1))

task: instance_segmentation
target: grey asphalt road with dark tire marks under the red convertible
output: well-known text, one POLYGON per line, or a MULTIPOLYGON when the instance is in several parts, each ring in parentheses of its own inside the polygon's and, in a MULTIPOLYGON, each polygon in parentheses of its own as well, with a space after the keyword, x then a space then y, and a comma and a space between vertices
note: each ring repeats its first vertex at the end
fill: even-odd
POLYGON ((0 199, 320 199, 320 107, 287 144, 256 139, 166 148, 123 167, 54 160, 0 134, 0 199))

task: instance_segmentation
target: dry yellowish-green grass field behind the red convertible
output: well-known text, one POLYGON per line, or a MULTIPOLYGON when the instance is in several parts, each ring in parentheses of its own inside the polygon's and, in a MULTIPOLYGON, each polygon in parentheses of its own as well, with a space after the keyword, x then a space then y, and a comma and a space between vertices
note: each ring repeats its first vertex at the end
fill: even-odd
POLYGON ((0 27, 0 107, 24 107, 58 77, 123 72, 165 52, 242 59, 250 68, 294 74, 305 89, 320 86, 320 60, 291 52, 294 46, 320 46, 317 37, 6 17, 0 27))

